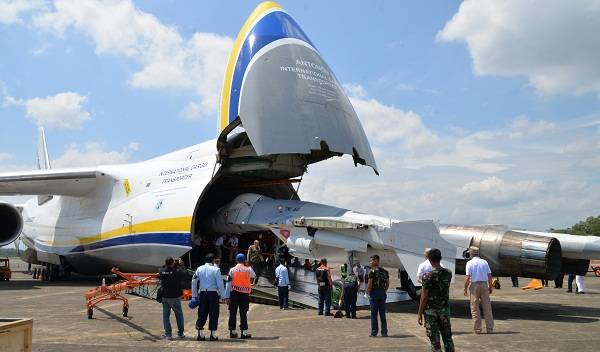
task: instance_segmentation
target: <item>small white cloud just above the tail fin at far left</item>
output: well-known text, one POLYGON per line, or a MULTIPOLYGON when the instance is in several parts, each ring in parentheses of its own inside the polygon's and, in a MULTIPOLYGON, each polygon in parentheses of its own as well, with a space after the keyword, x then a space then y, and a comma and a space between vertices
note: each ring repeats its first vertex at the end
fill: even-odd
POLYGON ((4 106, 25 107, 25 116, 38 126, 77 129, 91 119, 91 114, 83 109, 87 100, 86 96, 74 92, 28 100, 5 96, 4 106))

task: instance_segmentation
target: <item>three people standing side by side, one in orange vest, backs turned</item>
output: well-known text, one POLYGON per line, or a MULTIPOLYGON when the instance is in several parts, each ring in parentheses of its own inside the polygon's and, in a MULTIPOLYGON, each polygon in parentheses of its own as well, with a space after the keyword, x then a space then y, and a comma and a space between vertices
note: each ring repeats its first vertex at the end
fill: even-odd
MULTIPOLYGON (((238 253, 235 257, 236 265, 232 267, 226 279, 226 285, 223 284, 221 270, 216 264, 216 258, 213 254, 205 256, 205 264, 196 269, 192 278, 192 299, 189 302, 191 309, 198 308, 198 320, 196 329, 198 335, 196 340, 205 341, 207 336, 204 334, 204 326, 208 320, 208 329, 210 341, 217 341, 217 327, 219 325, 219 301, 229 306, 229 337, 249 339, 252 337, 248 333, 247 313, 250 307, 250 293, 252 290, 252 281, 256 274, 251 267, 247 265, 246 256, 238 253), (240 316, 240 334, 236 331, 237 315, 240 316)), ((161 280, 161 297, 163 305, 163 325, 165 329, 164 337, 172 339, 172 328, 170 323, 171 310, 175 313, 177 321, 177 336, 184 338, 184 321, 179 297, 182 294, 181 281, 183 271, 180 269, 181 261, 173 260, 168 257, 165 260, 165 266, 159 271, 161 280)))

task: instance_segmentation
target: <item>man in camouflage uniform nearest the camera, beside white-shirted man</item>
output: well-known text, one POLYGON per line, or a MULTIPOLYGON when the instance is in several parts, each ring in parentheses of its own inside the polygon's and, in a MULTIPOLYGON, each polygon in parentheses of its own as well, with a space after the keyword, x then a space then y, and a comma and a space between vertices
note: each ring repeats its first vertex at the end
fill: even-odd
POLYGON ((428 259, 433 267, 433 271, 423 278, 418 323, 419 325, 423 324, 423 313, 425 313, 425 329, 427 330, 427 337, 431 341, 432 351, 442 351, 440 344, 441 335, 444 342, 444 350, 446 352, 454 352, 448 297, 452 273, 440 266, 442 254, 439 249, 431 249, 428 259))

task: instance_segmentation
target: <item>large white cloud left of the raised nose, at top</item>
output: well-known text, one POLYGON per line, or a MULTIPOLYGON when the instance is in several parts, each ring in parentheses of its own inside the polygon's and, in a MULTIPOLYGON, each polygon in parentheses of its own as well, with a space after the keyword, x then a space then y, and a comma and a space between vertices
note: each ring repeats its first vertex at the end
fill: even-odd
POLYGON ((213 33, 183 38, 177 29, 162 24, 131 1, 57 0, 53 11, 38 14, 37 27, 63 36, 69 28, 88 35, 96 53, 121 55, 142 67, 129 84, 142 89, 185 89, 198 101, 187 118, 218 111, 220 88, 233 40, 213 33))

